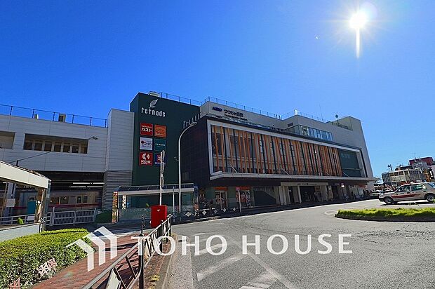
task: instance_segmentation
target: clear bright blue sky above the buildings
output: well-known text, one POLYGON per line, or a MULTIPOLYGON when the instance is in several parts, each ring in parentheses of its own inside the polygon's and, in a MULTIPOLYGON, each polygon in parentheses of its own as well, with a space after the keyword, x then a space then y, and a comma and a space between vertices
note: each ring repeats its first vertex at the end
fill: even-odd
POLYGON ((370 4, 357 59, 356 1, 0 1, 0 103, 105 118, 156 90, 352 115, 380 176, 435 156, 435 1, 370 4))

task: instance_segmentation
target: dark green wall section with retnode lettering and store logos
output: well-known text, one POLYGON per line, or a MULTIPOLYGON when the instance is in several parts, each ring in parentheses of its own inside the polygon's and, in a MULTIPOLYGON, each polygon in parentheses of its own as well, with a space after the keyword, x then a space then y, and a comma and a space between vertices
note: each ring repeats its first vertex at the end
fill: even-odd
POLYGON ((178 137, 183 129, 183 121, 199 114, 199 107, 184 102, 160 98, 155 95, 138 93, 131 101, 130 111, 134 112, 134 141, 132 185, 159 183, 160 168, 155 165, 156 154, 166 152, 168 166, 165 182, 178 183, 178 137), (141 137, 143 143, 141 142, 141 137), (166 142, 159 142, 165 140, 166 142), (147 152, 151 157, 142 161, 140 153, 147 152), (149 159, 152 162, 149 163, 149 159), (145 165, 146 163, 146 165, 145 165))

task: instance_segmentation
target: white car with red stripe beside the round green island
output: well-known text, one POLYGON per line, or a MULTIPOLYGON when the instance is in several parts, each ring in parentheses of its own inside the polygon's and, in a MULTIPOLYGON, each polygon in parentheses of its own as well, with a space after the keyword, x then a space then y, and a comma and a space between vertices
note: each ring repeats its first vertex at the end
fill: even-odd
POLYGON ((391 205, 399 201, 427 200, 430 203, 435 201, 435 183, 417 182, 415 184, 404 184, 396 191, 385 192, 379 196, 379 201, 391 205))

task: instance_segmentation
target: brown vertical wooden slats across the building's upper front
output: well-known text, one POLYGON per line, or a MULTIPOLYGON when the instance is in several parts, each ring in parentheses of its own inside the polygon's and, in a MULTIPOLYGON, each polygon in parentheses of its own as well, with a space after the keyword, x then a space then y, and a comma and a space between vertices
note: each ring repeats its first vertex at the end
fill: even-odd
POLYGON ((211 136, 214 171, 343 175, 335 147, 222 126, 211 126, 211 136))

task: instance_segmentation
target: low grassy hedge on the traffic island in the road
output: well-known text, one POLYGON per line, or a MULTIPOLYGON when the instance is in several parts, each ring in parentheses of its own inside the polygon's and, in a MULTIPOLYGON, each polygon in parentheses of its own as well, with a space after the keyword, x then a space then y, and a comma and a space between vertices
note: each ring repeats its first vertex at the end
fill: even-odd
POLYGON ((337 217, 435 217, 435 208, 339 210, 337 217))

